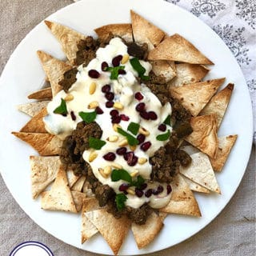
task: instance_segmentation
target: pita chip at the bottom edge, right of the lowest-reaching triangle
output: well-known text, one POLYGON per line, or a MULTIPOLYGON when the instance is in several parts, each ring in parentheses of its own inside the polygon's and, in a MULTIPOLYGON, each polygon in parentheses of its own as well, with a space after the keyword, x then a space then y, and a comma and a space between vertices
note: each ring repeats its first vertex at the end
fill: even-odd
POLYGON ((138 249, 142 249, 154 240, 160 230, 162 230, 162 219, 152 212, 144 225, 132 223, 131 230, 133 231, 138 249))

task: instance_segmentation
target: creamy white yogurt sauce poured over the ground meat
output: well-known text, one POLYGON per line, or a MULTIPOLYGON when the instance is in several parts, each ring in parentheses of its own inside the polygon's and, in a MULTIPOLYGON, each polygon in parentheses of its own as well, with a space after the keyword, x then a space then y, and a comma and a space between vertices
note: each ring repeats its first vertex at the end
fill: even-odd
MULTIPOLYGON (((166 105, 162 106, 161 102, 150 91, 150 89, 143 83, 140 84, 137 81, 136 77, 138 77, 138 72, 134 70, 133 66, 131 66, 129 59, 127 62, 120 64, 124 66, 126 74, 119 74, 117 79, 110 79, 110 72, 102 71, 102 62, 107 62, 109 66, 112 66, 111 63, 113 58, 118 55, 126 56, 127 46, 120 38, 113 38, 109 45, 97 50, 96 58, 91 60, 88 66, 78 66, 78 73, 76 76, 77 81, 70 87, 68 93, 61 90, 54 96, 53 100, 47 106, 48 115, 44 118, 44 122, 46 130, 49 131, 50 134, 56 134, 59 138, 65 139, 66 136, 70 135, 72 131, 76 129, 78 122, 82 122, 82 118, 79 116, 79 113, 81 111, 93 112, 95 107, 91 107, 94 105, 92 102, 97 102, 97 105, 103 111, 103 114, 97 114, 94 121, 102 128, 101 140, 106 142, 106 144, 102 146, 100 150, 85 150, 82 156, 86 162, 90 162, 94 175, 98 178, 99 182, 107 184, 112 187, 117 194, 120 194, 122 192, 120 192, 119 186, 126 182, 122 180, 113 182, 110 174, 102 175, 99 170, 104 170, 107 166, 110 166, 112 169, 119 169, 116 166, 116 164, 118 164, 119 166, 122 166, 123 170, 130 173, 131 176, 136 173, 137 177, 140 175, 144 179, 150 179, 152 166, 150 165, 149 158, 154 155, 154 152, 158 150, 160 146, 164 146, 169 140, 168 138, 166 141, 159 141, 157 136, 159 134, 165 134, 167 130, 170 130, 171 132, 172 128, 171 126, 167 126, 166 131, 164 132, 158 130, 158 126, 161 125, 166 120, 167 116, 171 114, 170 103, 167 102, 166 105), (90 70, 97 70, 100 74, 99 77, 91 78, 89 75, 90 70), (90 86, 93 82, 96 84, 96 89, 93 94, 90 94, 90 86), (113 102, 121 103, 121 109, 118 108, 119 115, 124 114, 126 116, 126 120, 121 120, 118 123, 118 126, 121 126, 122 130, 131 134, 130 131, 127 131, 127 128, 130 122, 134 122, 139 124, 144 131, 146 130, 149 132, 146 134, 145 139, 145 142, 150 142, 150 147, 147 150, 142 150, 142 144, 145 142, 141 145, 137 145, 136 148, 126 145, 127 152, 133 151, 134 155, 138 157, 138 159, 146 159, 146 162, 136 162, 135 165, 130 166, 122 155, 116 154, 116 150, 121 147, 120 143, 122 143, 126 138, 122 134, 119 134, 116 128, 114 130, 114 124, 111 122, 110 111, 114 110, 115 107, 106 106, 106 102, 108 100, 106 99, 106 95, 102 93, 102 87, 106 85, 109 85, 110 92, 114 93, 113 102), (134 97, 134 94, 138 92, 142 95, 142 99, 138 100, 134 97), (71 96, 72 100, 66 100, 66 109, 68 114, 66 114, 66 116, 63 116, 62 114, 54 114, 54 110, 60 106, 62 99, 65 99, 67 96, 70 97, 70 95, 73 96, 71 96), (142 118, 138 110, 136 110, 136 106, 138 106, 139 103, 145 103, 146 111, 154 111, 157 118, 154 118, 155 120, 146 120, 145 118, 142 118), (70 114, 71 111, 73 112, 72 115, 70 114), (129 120, 127 120, 127 117, 129 120), (113 138, 113 136, 118 136, 118 140, 110 142, 109 140, 110 138, 113 138), (115 155, 114 161, 107 161, 104 158, 104 155, 110 152, 115 155), (92 154, 97 157, 94 158, 93 161, 90 161, 92 154)), ((132 59, 134 57, 129 56, 129 58, 132 59)), ((139 62, 146 70, 144 75, 148 75, 151 70, 150 63, 142 60, 139 60, 139 62)), ((136 138, 137 135, 133 136, 136 138)), ((170 201, 171 196, 170 191, 167 193, 167 184, 149 182, 146 190, 154 191, 158 186, 160 186, 161 189, 160 193, 156 195, 152 194, 150 197, 147 197, 145 193, 141 197, 132 193, 126 194, 126 206, 138 208, 145 202, 148 202, 153 208, 166 206, 170 201)), ((133 190, 134 187, 130 187, 130 189, 133 190)))

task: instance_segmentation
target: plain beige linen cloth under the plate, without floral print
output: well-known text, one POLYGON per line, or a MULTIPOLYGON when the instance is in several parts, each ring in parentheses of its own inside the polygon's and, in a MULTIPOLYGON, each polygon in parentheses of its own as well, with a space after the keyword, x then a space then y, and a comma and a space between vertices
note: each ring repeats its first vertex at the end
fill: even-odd
MULTIPOLYGON (((18 42, 43 18, 71 2, 0 0, 0 73, 18 42)), ((222 213, 192 238, 149 255, 255 255, 255 210, 254 146, 242 183, 222 213)), ((46 244, 55 256, 95 255, 61 242, 37 226, 14 201, 0 176, 0 255, 9 255, 14 246, 30 240, 46 244)))

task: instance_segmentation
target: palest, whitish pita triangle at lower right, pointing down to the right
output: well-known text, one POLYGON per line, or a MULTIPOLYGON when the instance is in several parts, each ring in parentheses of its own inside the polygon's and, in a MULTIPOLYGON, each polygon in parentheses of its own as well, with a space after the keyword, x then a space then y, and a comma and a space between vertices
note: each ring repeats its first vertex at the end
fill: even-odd
POLYGON ((199 185, 205 186, 208 190, 221 194, 208 156, 202 152, 198 152, 191 154, 190 157, 192 158, 190 166, 181 167, 181 174, 197 182, 199 185))

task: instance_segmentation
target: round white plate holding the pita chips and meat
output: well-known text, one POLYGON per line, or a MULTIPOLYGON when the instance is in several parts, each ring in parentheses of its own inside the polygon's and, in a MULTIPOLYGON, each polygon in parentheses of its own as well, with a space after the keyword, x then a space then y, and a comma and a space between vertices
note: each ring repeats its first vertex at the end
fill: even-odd
MULTIPOLYGON (((98 26, 130 22, 130 9, 142 14, 168 34, 182 34, 194 43, 215 63, 207 78, 226 77, 225 86, 228 82, 234 82, 234 93, 219 135, 238 134, 238 140, 223 172, 217 174, 222 195, 196 194, 202 218, 168 216, 161 233, 143 250, 137 249, 130 232, 120 255, 162 250, 190 238, 205 227, 221 212, 237 189, 246 170, 252 142, 250 95, 238 63, 214 31, 192 14, 159 0, 86 0, 67 6, 47 19, 70 26, 84 34, 93 34, 93 29, 98 26)), ((36 153, 30 146, 14 138, 10 132, 19 130, 29 120, 29 117, 16 110, 16 106, 27 102, 26 95, 38 90, 45 78, 36 50, 44 50, 57 58, 64 58, 58 42, 41 22, 19 44, 7 63, 0 80, 2 177, 18 204, 44 230, 83 250, 112 254, 100 235, 81 245, 79 215, 44 211, 40 208, 39 200, 31 199, 29 155, 36 153)), ((18 226, 18 223, 14 225, 18 226)), ((26 226, 22 228, 26 229, 26 226)))

